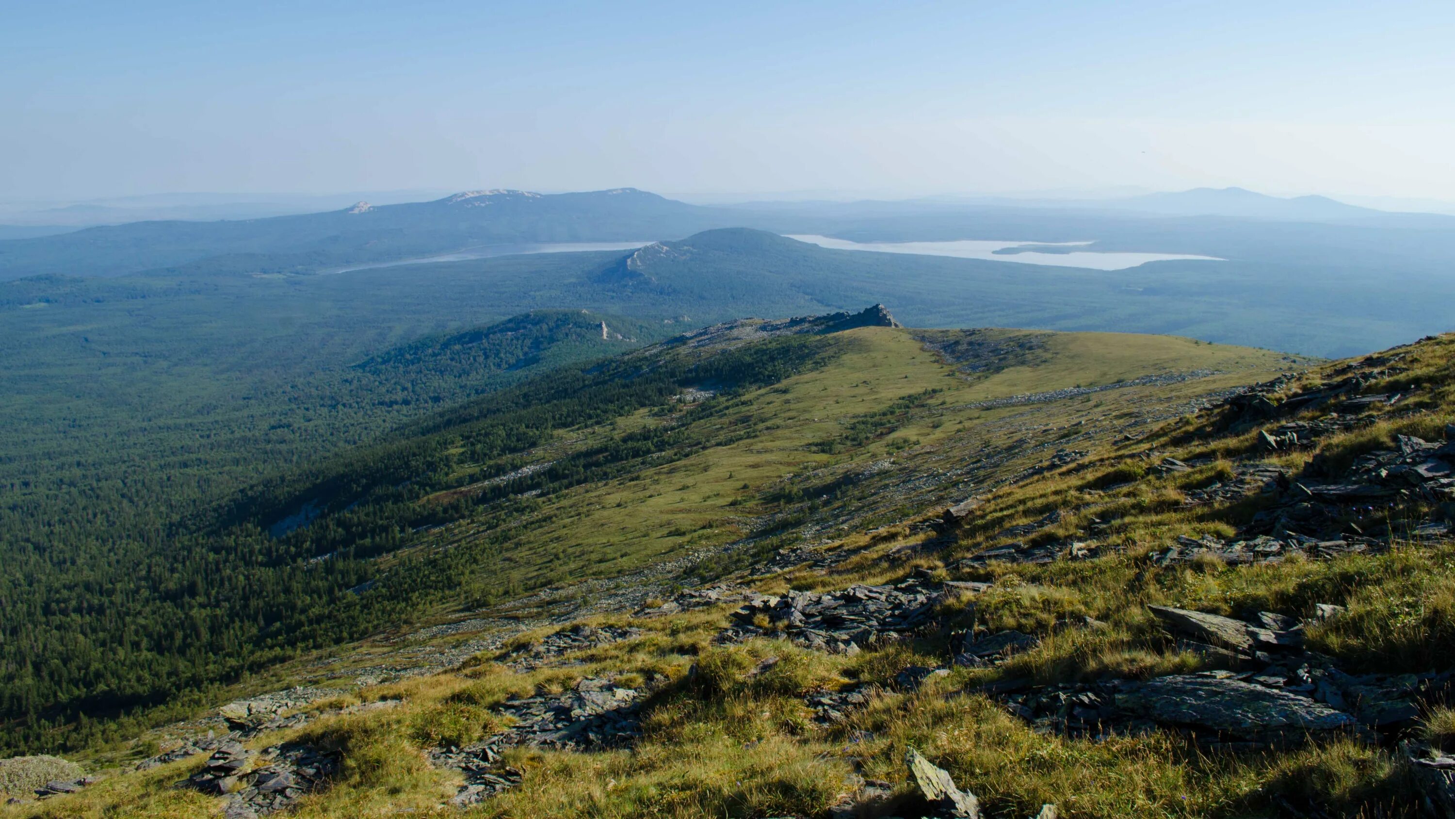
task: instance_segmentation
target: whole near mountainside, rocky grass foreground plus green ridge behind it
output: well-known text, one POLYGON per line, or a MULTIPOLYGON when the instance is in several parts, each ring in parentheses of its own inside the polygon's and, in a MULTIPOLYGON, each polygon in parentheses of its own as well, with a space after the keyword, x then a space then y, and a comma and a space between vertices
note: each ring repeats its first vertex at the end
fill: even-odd
POLYGON ((249 658, 208 671, 236 682, 12 732, 111 772, 6 810, 902 816, 936 812, 925 775, 988 815, 1445 793, 1455 337, 1321 364, 893 323, 693 330, 191 522, 212 569, 108 605, 178 618, 157 650, 249 658), (191 719, 146 730, 167 714, 191 719))

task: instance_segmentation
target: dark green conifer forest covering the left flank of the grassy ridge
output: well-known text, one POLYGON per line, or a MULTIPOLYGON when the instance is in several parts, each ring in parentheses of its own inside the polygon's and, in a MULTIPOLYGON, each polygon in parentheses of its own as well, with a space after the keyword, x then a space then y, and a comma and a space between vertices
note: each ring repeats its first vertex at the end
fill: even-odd
POLYGON ((157 706, 185 707, 189 694, 249 669, 406 623, 420 605, 457 591, 461 562, 477 563, 503 546, 490 538, 471 550, 406 559, 377 578, 371 559, 407 544, 410 530, 471 515, 495 528, 533 503, 512 495, 549 495, 643 458, 682 457, 706 438, 643 431, 469 500, 420 505, 420 498, 503 473, 512 454, 560 429, 663 404, 687 385, 730 391, 771 383, 831 353, 829 339, 792 337, 703 361, 671 356, 646 369, 630 356, 565 368, 428 416, 393 441, 263 480, 221 509, 169 518, 166 509, 188 493, 173 495, 162 476, 156 487, 143 482, 141 495, 122 480, 115 496, 97 493, 83 506, 42 503, 7 515, 4 751, 115 736, 129 724, 119 716, 160 719, 170 711, 157 706), (461 474, 461 463, 479 466, 461 474), (121 514, 128 508, 134 512, 121 514), (317 509, 319 518, 282 537, 269 534, 300 508, 317 509), (97 518, 106 512, 116 516, 97 518), (365 580, 377 580, 371 594, 349 594, 365 580))

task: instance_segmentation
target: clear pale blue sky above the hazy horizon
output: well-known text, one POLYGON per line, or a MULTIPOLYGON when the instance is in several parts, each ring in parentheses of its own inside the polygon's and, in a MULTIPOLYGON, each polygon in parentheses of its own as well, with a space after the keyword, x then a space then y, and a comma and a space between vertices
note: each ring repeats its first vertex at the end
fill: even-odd
POLYGON ((1451 3, 0 0, 0 199, 1455 199, 1451 3))

